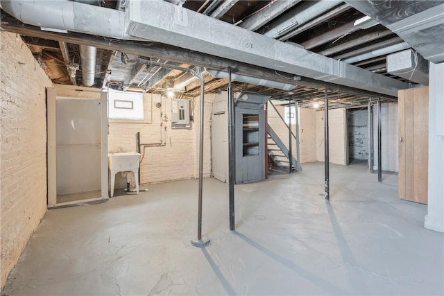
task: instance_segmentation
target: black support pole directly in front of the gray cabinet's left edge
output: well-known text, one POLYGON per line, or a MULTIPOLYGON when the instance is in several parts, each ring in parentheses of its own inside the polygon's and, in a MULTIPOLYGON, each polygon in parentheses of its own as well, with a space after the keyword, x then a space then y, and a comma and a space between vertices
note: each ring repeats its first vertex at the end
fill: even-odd
POLYGON ((230 230, 234 231, 234 100, 231 87, 231 68, 228 67, 228 191, 230 202, 230 230))

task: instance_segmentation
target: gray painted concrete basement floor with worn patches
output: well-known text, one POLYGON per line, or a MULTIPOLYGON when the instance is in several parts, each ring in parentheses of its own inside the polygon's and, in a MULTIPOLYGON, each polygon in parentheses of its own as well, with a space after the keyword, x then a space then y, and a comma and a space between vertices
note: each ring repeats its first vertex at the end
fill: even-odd
POLYGON ((427 207, 398 199, 395 174, 323 164, 236 186, 204 181, 204 249, 197 180, 149 186, 103 204, 46 213, 5 295, 443 295, 443 234, 427 207))

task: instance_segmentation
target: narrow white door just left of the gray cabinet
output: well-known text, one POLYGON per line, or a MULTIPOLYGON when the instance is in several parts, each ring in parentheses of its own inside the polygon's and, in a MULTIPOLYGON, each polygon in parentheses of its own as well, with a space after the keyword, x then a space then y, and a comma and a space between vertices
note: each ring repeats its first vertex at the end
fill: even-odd
POLYGON ((212 120, 212 171, 221 182, 228 179, 228 122, 224 113, 214 114, 212 120))

